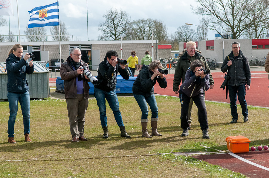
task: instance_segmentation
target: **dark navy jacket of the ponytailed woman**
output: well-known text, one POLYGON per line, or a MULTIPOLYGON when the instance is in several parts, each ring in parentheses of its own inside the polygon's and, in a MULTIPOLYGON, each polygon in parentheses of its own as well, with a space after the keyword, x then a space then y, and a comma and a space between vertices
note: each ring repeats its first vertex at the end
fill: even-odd
POLYGON ((24 59, 15 57, 11 53, 6 60, 6 70, 7 91, 25 93, 29 90, 26 74, 33 74, 34 65, 30 67, 24 59))

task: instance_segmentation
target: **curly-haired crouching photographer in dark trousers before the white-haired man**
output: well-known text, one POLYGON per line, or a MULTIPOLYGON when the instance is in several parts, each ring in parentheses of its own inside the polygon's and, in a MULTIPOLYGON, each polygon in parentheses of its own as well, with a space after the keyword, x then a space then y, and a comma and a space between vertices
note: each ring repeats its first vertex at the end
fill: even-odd
POLYGON ((200 60, 194 60, 190 69, 186 72, 185 81, 180 86, 179 99, 181 102, 181 128, 183 129, 182 137, 189 135, 188 110, 189 101, 192 98, 198 108, 198 117, 200 127, 203 131, 203 138, 209 139, 207 132, 207 110, 204 102, 204 91, 207 91, 209 86, 209 75, 207 70, 204 70, 204 64, 200 60))

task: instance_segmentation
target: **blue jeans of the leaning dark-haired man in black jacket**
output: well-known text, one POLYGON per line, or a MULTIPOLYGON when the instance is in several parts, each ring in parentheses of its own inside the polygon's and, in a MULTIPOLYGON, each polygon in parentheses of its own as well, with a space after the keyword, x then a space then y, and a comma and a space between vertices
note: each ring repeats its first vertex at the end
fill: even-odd
POLYGON ((124 126, 121 113, 120 113, 120 105, 117 98, 116 91, 104 91, 99 88, 94 88, 94 97, 96 98, 97 105, 99 107, 100 112, 100 120, 102 127, 107 126, 107 117, 106 117, 106 100, 109 104, 109 107, 113 111, 115 120, 118 126, 124 126))

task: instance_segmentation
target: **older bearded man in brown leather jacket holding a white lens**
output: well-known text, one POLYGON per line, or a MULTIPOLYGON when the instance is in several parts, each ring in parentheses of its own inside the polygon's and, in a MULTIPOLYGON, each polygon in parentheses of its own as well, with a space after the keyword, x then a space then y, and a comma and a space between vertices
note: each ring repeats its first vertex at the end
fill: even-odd
POLYGON ((72 48, 70 56, 60 68, 61 78, 64 81, 72 142, 88 140, 84 137, 84 124, 90 86, 89 79, 83 74, 82 66, 88 69, 88 65, 81 60, 80 49, 72 48))

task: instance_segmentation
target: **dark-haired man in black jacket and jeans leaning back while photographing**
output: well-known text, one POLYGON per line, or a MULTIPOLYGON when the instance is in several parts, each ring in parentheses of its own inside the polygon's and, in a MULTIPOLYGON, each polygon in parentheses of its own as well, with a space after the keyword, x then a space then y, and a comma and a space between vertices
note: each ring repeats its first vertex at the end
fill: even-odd
POLYGON ((104 130, 103 138, 108 138, 108 126, 106 117, 106 100, 113 111, 115 120, 120 127, 120 136, 130 138, 126 133, 125 126, 122 121, 119 101, 115 91, 117 84, 118 72, 123 79, 129 79, 129 73, 124 64, 118 64, 117 52, 110 50, 106 52, 105 59, 99 64, 98 68, 98 84, 94 85, 94 97, 100 112, 101 125, 104 130))

